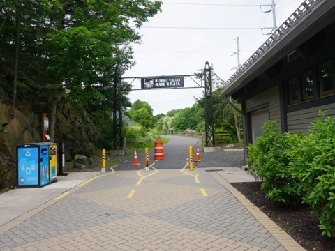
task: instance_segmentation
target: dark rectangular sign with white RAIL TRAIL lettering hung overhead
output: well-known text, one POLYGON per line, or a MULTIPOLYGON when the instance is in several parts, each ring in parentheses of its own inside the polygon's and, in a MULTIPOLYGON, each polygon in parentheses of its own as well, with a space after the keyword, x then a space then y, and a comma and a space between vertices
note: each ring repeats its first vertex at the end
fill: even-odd
POLYGON ((184 76, 141 78, 141 89, 184 87, 184 76))

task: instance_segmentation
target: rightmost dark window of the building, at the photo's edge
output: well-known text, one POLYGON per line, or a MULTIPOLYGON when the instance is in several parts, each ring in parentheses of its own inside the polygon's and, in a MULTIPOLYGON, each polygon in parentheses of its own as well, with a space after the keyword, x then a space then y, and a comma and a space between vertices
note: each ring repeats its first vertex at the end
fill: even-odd
POLYGON ((319 68, 320 96, 334 94, 332 61, 325 63, 319 68))

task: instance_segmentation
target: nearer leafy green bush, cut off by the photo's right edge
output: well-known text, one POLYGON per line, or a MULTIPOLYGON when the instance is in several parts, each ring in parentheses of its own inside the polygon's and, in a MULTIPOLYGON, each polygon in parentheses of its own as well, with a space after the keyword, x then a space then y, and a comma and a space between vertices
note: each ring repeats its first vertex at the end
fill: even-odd
POLYGON ((335 236, 335 118, 311 124, 308 135, 292 151, 292 175, 300 181, 304 203, 320 219, 322 235, 335 236))

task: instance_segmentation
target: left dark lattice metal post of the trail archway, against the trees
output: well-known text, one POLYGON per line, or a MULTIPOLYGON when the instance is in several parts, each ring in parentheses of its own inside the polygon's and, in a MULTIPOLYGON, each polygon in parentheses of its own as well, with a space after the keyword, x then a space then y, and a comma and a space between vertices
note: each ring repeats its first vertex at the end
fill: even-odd
POLYGON ((124 149, 122 132, 121 73, 115 66, 113 80, 113 149, 124 149))

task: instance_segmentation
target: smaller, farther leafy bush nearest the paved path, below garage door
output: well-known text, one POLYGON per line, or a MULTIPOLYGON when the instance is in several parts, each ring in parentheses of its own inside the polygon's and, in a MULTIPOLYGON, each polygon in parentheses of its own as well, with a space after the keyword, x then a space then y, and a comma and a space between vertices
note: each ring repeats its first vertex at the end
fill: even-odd
POLYGON ((282 134, 275 121, 263 126, 256 144, 248 146, 249 172, 264 179, 261 188, 274 201, 285 204, 301 202, 297 179, 289 171, 290 151, 300 135, 282 134))

